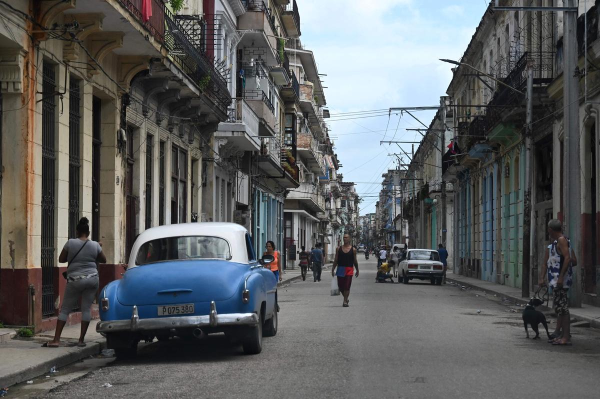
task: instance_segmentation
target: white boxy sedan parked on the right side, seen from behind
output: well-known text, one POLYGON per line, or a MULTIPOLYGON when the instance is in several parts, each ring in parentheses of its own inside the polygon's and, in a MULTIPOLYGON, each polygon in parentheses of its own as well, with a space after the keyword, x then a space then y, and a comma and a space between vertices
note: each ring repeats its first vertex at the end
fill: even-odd
POLYGON ((440 262, 440 254, 436 250, 408 250, 406 259, 400 262, 402 282, 408 284, 409 280, 430 280, 431 284, 442 284, 444 266, 440 262))

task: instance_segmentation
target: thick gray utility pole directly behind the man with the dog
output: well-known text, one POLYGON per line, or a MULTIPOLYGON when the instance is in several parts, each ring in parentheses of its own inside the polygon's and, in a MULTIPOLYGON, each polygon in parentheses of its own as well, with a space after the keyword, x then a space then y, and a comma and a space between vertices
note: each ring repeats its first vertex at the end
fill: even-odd
MULTIPOLYGON (((581 248, 581 182, 579 166, 579 81, 575 76, 577 67, 577 1, 564 0, 565 5, 574 7, 575 11, 563 14, 564 58, 563 67, 563 104, 565 106, 565 164, 563 164, 563 204, 565 209, 565 233, 581 248)), ((586 49, 587 51, 587 49, 586 49)), ((581 307, 581 266, 574 268, 573 287, 575 295, 569 302, 581 307)))

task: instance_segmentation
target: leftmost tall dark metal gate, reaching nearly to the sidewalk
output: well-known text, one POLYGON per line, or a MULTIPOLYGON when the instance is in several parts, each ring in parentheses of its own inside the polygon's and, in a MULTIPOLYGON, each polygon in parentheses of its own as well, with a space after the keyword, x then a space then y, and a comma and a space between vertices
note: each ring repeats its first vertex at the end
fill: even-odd
POLYGON ((54 202, 55 202, 55 71, 48 62, 42 73, 41 146, 41 313, 52 316, 54 308, 54 202))

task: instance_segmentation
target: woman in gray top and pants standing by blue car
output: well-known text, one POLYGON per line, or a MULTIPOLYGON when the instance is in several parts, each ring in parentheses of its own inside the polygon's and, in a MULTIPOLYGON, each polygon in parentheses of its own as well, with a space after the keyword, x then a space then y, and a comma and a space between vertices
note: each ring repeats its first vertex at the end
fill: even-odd
POLYGON ((106 263, 106 256, 102 252, 102 244, 88 239, 88 236, 89 221, 88 218, 83 217, 77 224, 77 238, 69 239, 58 257, 58 262, 68 263, 67 287, 63 296, 61 313, 58 316, 58 322, 56 322, 54 339, 44 344, 44 346, 59 346, 62 328, 64 328, 71 310, 77 307, 79 298, 81 298, 82 321, 77 346, 85 346, 83 338, 85 338, 85 333, 88 331, 92 302, 94 302, 94 296, 98 292, 98 284, 100 283, 96 262, 106 263))

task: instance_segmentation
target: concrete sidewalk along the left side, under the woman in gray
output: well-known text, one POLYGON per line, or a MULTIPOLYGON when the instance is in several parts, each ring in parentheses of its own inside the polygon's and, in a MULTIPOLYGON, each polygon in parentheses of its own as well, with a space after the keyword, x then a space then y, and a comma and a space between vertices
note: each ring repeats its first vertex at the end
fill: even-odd
MULTIPOLYGON (((323 269, 328 268, 323 266, 323 269)), ((301 278, 300 269, 287 269, 279 286, 301 278)), ((307 278, 313 278, 308 272, 307 278)), ((52 340, 54 331, 46 331, 32 338, 19 338, 14 329, 0 329, 0 388, 32 380, 38 376, 51 376, 50 368, 61 369, 74 362, 98 355, 106 348, 106 340, 96 332, 92 320, 86 334, 85 347, 77 347, 80 325, 67 326, 62 331, 61 346, 46 348, 41 345, 52 340)))

